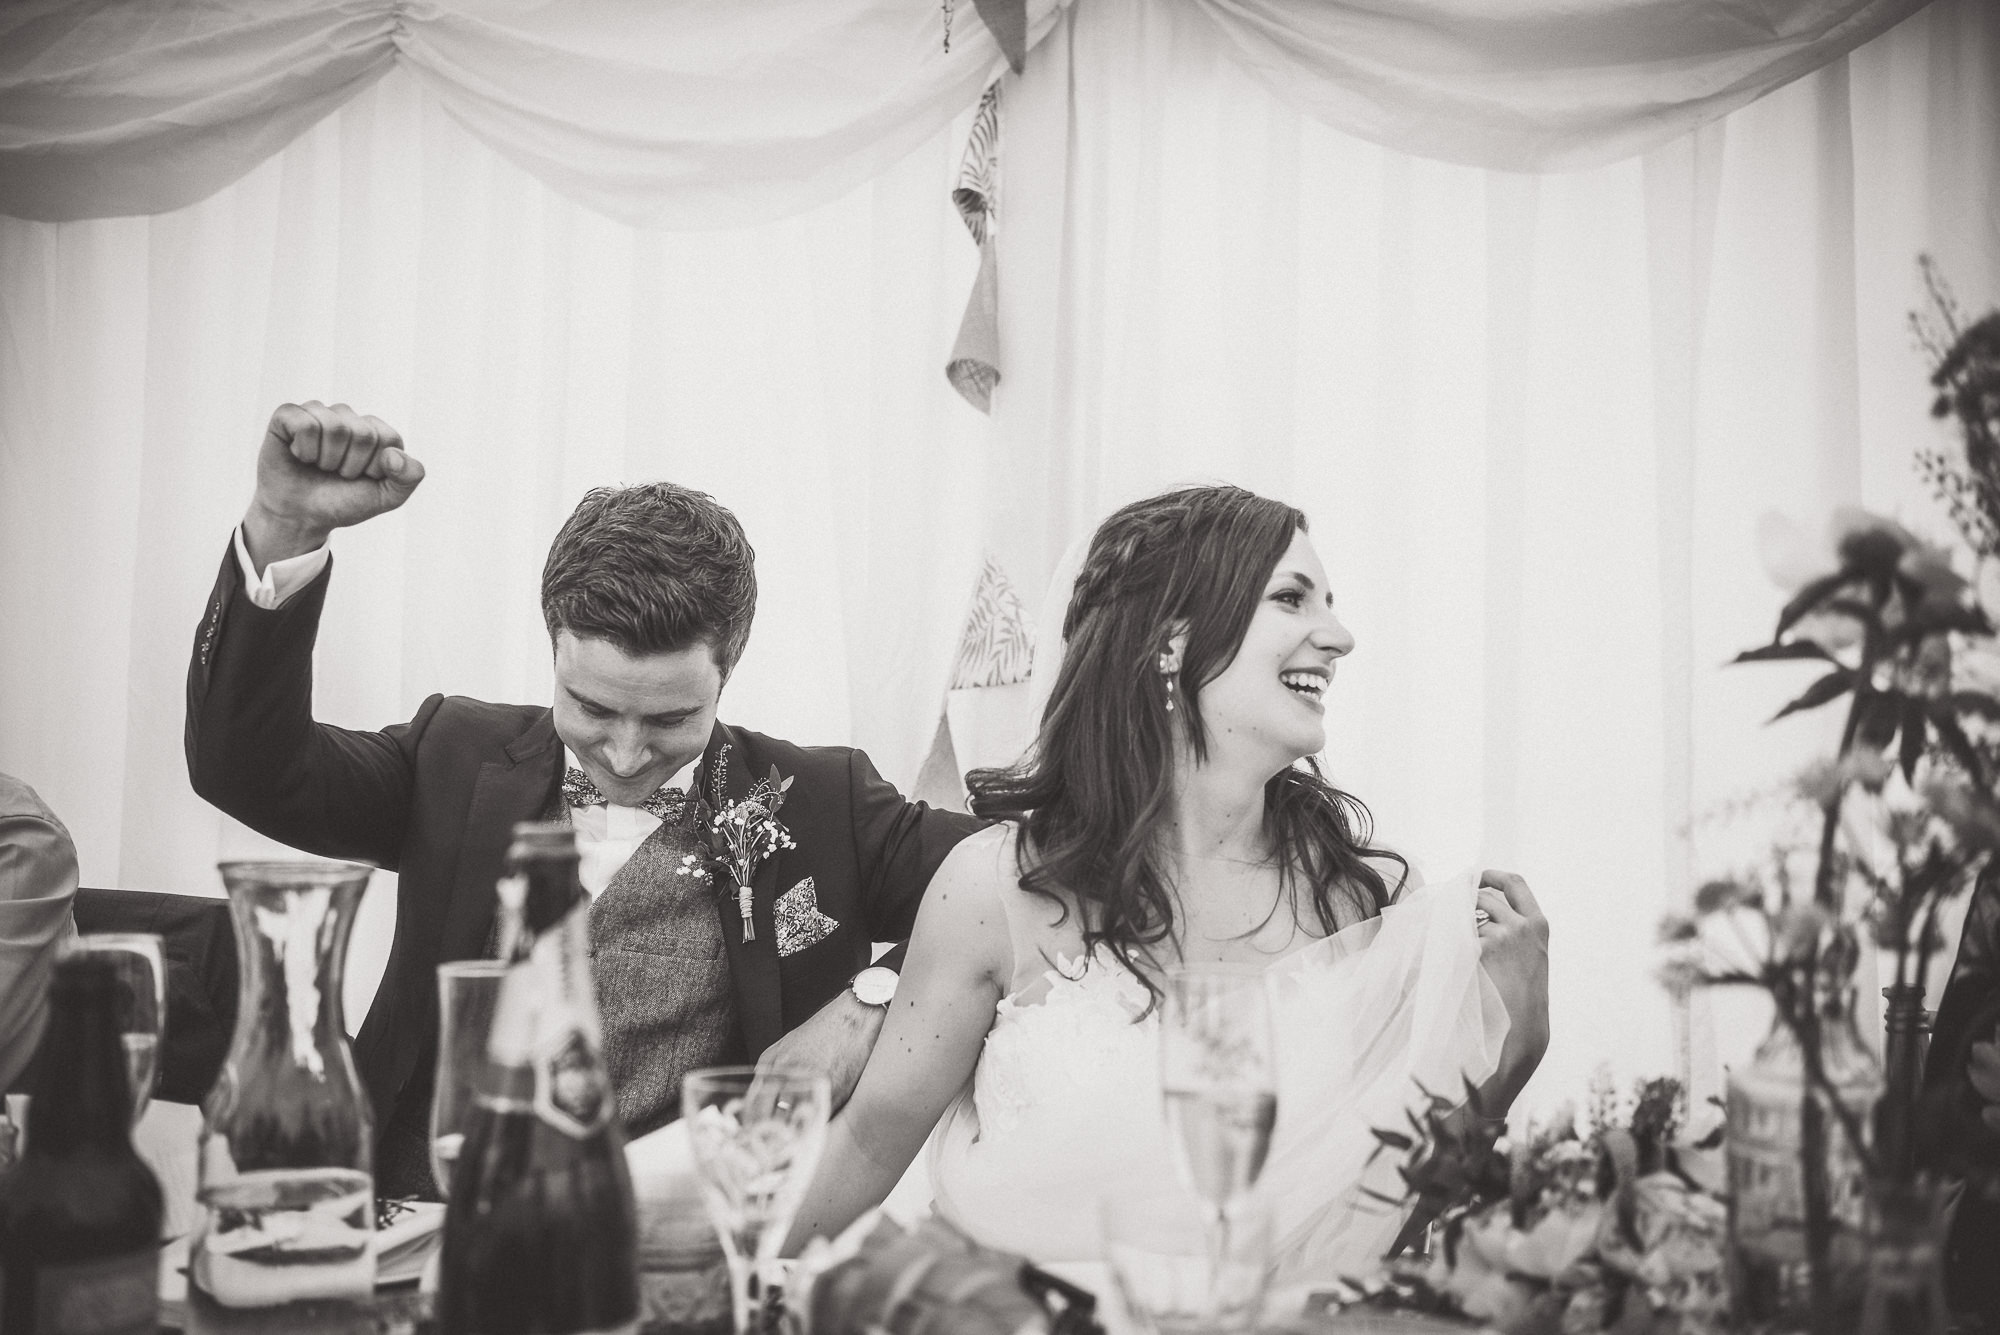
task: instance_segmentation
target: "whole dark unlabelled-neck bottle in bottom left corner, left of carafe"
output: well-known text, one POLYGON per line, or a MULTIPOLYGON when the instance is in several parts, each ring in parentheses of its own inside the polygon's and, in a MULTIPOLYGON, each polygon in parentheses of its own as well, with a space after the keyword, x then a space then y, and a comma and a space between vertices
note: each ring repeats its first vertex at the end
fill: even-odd
POLYGON ((0 1333, 152 1335, 160 1183, 132 1149, 108 959, 56 963, 28 1145, 0 1175, 0 1333))

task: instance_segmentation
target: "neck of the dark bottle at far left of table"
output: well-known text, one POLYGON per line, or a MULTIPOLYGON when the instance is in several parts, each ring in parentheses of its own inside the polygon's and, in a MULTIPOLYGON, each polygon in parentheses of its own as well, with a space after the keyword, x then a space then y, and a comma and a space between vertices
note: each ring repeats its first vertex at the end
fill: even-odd
POLYGON ((28 1157, 132 1149, 132 1085, 108 975, 80 985, 62 979, 50 989, 36 1065, 28 1157))

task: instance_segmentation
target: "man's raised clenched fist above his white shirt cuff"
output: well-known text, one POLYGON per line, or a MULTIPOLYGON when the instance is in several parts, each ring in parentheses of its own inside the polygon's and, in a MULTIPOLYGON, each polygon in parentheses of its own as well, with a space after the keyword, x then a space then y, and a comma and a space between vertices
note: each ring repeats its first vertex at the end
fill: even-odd
POLYGON ((362 524, 410 500, 424 466, 382 418, 318 400, 282 404, 256 456, 256 496, 244 542, 258 570, 326 546, 336 528, 362 524))

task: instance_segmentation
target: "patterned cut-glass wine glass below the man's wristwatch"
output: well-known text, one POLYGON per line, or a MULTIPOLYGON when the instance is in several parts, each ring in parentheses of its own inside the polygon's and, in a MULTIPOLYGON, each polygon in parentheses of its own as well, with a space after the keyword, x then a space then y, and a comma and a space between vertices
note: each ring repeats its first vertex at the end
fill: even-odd
POLYGON ((778 1249, 826 1147, 824 1075, 706 1067, 680 1083, 694 1173, 730 1261, 736 1335, 766 1329, 778 1249))

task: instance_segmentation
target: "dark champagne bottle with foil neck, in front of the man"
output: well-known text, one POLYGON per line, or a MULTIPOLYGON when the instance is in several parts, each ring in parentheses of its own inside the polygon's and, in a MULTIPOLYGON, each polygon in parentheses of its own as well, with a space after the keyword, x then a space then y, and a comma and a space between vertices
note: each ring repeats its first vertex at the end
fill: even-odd
POLYGON ((590 987, 590 903, 568 825, 522 823, 500 887, 510 961, 452 1169, 438 1327, 638 1329, 638 1227, 590 987))

